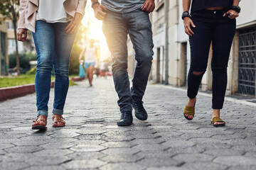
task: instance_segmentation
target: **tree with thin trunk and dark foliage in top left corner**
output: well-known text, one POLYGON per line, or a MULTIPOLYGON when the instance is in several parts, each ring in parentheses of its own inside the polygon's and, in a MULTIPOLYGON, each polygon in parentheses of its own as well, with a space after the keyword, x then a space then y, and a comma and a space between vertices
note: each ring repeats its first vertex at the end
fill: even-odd
POLYGON ((19 0, 0 0, 0 22, 5 21, 6 18, 10 19, 14 24, 14 36, 16 44, 16 67, 18 75, 21 74, 20 62, 18 55, 18 41, 17 41, 17 31, 16 24, 18 21, 18 6, 19 0))

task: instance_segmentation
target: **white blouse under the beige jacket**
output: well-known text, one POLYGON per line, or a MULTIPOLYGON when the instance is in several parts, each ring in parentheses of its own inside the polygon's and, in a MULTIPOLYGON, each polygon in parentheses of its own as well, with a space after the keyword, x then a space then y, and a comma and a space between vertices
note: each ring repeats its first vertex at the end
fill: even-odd
POLYGON ((63 2, 64 0, 39 0, 36 20, 47 23, 67 23, 68 17, 63 2))

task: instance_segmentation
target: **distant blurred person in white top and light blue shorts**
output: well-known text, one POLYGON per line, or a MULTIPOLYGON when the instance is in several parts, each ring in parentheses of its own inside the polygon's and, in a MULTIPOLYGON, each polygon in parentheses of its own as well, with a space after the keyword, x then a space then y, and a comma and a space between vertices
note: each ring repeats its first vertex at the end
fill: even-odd
POLYGON ((85 47, 82 50, 79 60, 82 60, 82 57, 85 59, 85 72, 89 81, 90 86, 92 86, 93 71, 95 69, 95 64, 97 62, 97 48, 94 46, 95 40, 90 40, 90 46, 85 47))

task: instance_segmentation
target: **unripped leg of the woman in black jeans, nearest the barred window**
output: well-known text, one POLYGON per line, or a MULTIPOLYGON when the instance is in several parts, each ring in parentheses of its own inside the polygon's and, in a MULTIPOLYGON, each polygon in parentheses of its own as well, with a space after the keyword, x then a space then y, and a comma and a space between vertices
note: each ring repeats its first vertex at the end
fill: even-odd
MULTIPOLYGON (((211 69, 213 72, 213 118, 220 117, 227 87, 227 67, 230 48, 235 35, 235 20, 224 19, 213 30, 213 58, 211 69)), ((216 122, 215 125, 223 124, 216 122)))

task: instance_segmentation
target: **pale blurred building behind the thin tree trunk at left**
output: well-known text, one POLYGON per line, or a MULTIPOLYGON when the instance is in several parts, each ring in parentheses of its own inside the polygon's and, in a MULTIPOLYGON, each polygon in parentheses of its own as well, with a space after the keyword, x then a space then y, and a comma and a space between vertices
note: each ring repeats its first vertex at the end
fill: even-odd
MULTIPOLYGON (((16 52, 14 24, 11 20, 6 20, 8 25, 8 54, 16 52)), ((18 52, 36 52, 31 31, 28 31, 28 38, 25 42, 18 41, 18 52)))

